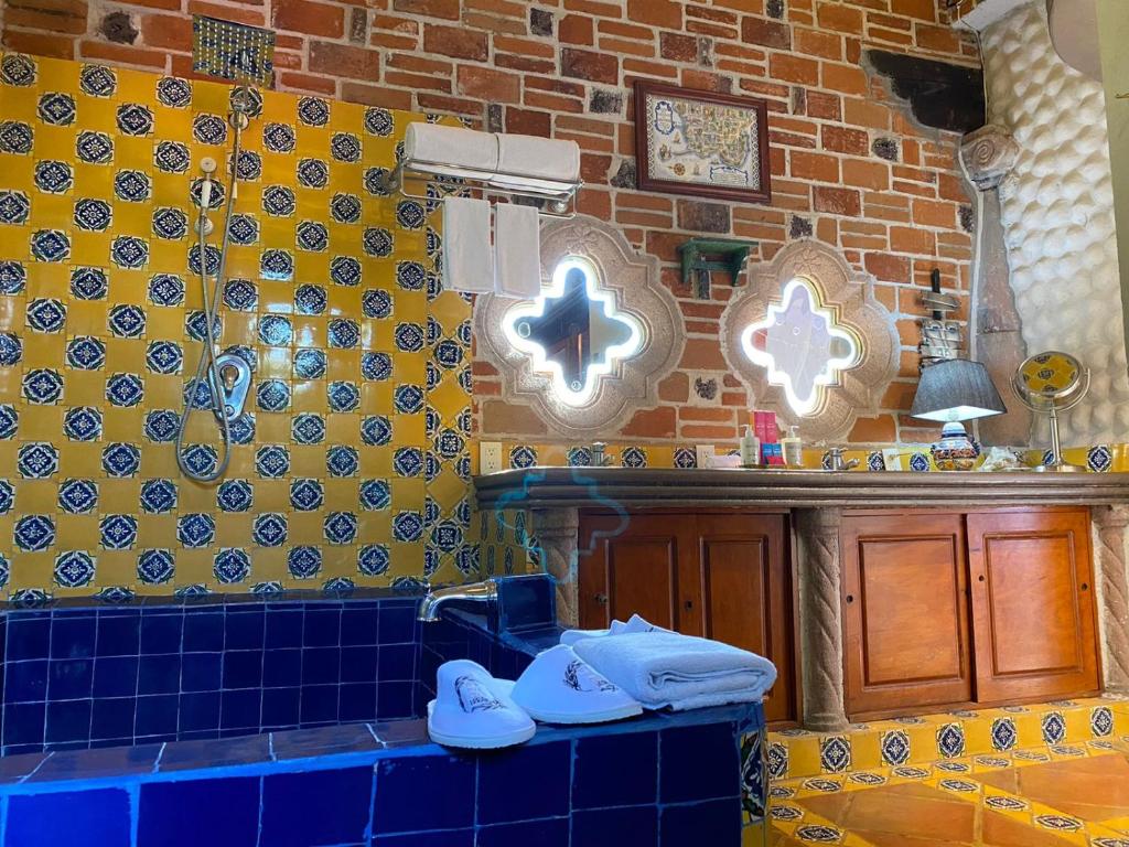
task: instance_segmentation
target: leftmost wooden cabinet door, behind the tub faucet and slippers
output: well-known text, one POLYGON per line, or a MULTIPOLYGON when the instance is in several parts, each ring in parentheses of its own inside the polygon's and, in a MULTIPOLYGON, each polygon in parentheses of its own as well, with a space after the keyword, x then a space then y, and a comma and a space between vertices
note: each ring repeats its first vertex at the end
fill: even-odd
POLYGON ((693 531, 692 515, 581 515, 580 626, 639 613, 681 629, 680 570, 694 555, 693 531))

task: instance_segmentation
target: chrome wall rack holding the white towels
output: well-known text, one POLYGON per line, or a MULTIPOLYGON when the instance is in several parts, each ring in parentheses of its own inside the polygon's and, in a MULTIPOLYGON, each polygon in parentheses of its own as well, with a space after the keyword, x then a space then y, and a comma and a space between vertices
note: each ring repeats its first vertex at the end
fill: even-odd
POLYGON ((525 174, 479 171, 476 168, 463 167, 462 165, 452 165, 450 163, 405 159, 399 163, 385 177, 385 190, 388 193, 399 192, 401 195, 412 200, 443 202, 443 197, 411 192, 408 189, 408 183, 413 180, 422 182, 430 182, 432 180, 454 181, 461 187, 476 189, 484 194, 543 200, 546 202, 540 211, 550 218, 574 217, 576 215, 576 195, 584 185, 579 180, 576 182, 557 182, 554 180, 531 177, 525 174), (535 180, 539 185, 523 185, 518 187, 510 184, 513 181, 530 180, 535 180))

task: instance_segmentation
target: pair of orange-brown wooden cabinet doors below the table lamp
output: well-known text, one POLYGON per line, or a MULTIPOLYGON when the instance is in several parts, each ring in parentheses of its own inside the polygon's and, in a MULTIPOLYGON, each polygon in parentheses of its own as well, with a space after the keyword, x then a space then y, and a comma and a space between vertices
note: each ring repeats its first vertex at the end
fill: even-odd
POLYGON ((848 513, 841 552, 849 716, 1099 690, 1088 509, 848 513))

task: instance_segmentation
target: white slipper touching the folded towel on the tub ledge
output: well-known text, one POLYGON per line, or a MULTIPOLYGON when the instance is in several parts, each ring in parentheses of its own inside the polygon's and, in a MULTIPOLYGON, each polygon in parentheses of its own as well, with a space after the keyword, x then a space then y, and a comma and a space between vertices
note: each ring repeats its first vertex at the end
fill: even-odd
POLYGON ((510 696, 543 724, 602 724, 642 714, 632 697, 563 644, 539 654, 513 683, 510 696))

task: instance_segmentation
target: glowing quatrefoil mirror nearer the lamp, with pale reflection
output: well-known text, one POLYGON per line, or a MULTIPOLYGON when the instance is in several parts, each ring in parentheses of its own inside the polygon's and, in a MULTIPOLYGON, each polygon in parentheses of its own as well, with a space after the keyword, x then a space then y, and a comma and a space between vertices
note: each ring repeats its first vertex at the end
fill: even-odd
POLYGON ((770 303, 763 321, 745 328, 741 346, 768 381, 784 388, 796 414, 816 412, 824 387, 859 364, 860 347, 852 332, 837 323, 837 312, 823 305, 808 280, 793 278, 779 303, 770 303))

